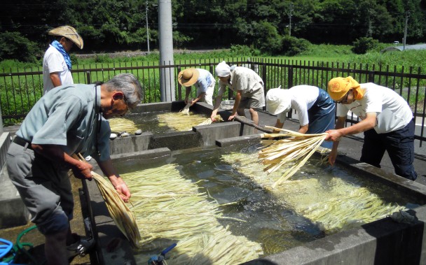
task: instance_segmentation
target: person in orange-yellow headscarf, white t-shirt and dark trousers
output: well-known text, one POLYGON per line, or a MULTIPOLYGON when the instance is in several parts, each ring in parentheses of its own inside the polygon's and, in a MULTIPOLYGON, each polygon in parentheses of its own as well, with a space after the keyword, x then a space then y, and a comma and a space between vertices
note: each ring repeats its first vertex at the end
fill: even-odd
POLYGON ((397 92, 374 83, 359 84, 350 76, 331 79, 328 92, 337 103, 336 128, 326 131, 326 140, 334 141, 329 154, 331 165, 336 161, 341 137, 364 132, 361 162, 380 168, 387 151, 397 175, 409 180, 417 178, 413 166, 413 112, 397 92), (349 110, 361 121, 344 127, 349 110))

